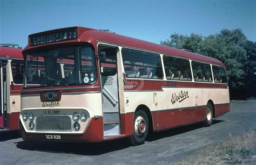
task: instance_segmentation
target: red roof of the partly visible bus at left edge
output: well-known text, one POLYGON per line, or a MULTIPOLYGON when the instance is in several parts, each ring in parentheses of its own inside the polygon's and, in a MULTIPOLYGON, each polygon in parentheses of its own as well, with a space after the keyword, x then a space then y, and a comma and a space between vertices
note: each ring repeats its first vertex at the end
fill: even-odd
POLYGON ((22 49, 0 46, 0 58, 22 59, 22 49))

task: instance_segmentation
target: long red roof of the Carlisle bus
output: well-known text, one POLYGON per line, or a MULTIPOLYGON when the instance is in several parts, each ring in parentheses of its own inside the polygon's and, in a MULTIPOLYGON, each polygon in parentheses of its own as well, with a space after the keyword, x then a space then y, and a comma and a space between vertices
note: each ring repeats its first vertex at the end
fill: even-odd
MULTIPOLYGON (((124 47, 130 47, 130 48, 137 48, 142 49, 150 52, 157 52, 160 54, 166 54, 166 55, 174 55, 180 58, 187 58, 191 60, 198 60, 203 62, 209 62, 213 64, 218 64, 220 66, 224 66, 224 64, 214 58, 210 58, 205 55, 200 55, 197 53, 187 52, 183 51, 181 49, 172 48, 169 46, 154 44, 152 42, 147 42, 139 39, 134 39, 131 37, 126 37, 124 35, 119 35, 115 33, 95 30, 92 28, 87 27, 80 27, 78 26, 78 39, 75 41, 79 42, 109 42, 111 44, 124 46, 124 47), (80 33, 80 34, 79 34, 80 33)), ((53 30, 55 31, 55 30, 53 30)), ((64 41, 64 42, 74 42, 74 40, 64 41)), ((45 44, 45 45, 52 45, 57 43, 51 43, 51 44, 45 44)), ((41 47, 41 46, 35 46, 35 47, 41 47)), ((30 49, 31 47, 25 47, 24 50, 30 49)))

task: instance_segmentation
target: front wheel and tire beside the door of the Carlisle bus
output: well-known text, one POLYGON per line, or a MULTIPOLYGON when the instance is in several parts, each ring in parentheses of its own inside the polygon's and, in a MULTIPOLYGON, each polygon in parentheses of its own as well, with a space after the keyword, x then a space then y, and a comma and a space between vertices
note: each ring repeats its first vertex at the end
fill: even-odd
POLYGON ((149 118, 143 110, 138 110, 133 119, 133 135, 129 139, 132 146, 144 144, 147 134, 149 133, 149 118))

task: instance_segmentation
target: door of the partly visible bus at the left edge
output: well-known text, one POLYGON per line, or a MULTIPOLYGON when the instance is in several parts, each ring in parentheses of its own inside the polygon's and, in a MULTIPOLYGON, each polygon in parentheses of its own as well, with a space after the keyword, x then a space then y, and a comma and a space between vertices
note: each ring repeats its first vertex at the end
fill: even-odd
POLYGON ((0 128, 6 127, 6 62, 0 60, 0 128))

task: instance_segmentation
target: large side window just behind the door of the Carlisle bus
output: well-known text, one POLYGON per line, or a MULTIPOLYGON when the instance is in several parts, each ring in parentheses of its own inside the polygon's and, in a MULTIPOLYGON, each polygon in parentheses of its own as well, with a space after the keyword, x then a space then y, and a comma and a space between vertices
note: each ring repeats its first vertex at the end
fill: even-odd
POLYGON ((163 79, 159 54, 123 48, 122 56, 127 77, 163 79))

